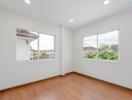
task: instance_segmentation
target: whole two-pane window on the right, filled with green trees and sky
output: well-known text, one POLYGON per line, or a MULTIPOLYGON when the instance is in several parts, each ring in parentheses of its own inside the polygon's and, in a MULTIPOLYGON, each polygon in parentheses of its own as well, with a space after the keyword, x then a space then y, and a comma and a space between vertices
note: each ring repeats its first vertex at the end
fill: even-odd
POLYGON ((119 31, 100 33, 83 38, 83 53, 87 59, 118 60, 119 31))

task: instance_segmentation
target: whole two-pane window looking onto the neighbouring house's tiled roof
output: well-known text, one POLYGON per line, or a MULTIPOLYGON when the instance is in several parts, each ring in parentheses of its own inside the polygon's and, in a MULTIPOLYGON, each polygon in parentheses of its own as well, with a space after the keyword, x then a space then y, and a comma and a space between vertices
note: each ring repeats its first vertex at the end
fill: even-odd
POLYGON ((55 36, 17 29, 17 60, 38 60, 55 57, 55 36))

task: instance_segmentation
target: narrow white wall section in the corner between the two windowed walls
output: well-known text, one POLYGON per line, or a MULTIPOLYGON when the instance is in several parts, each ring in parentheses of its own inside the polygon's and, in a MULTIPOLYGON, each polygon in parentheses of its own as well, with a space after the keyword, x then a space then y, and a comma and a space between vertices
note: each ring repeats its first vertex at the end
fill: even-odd
POLYGON ((72 54, 73 54, 73 34, 72 31, 62 27, 61 29, 61 74, 64 75, 66 73, 73 71, 73 64, 72 64, 72 54))

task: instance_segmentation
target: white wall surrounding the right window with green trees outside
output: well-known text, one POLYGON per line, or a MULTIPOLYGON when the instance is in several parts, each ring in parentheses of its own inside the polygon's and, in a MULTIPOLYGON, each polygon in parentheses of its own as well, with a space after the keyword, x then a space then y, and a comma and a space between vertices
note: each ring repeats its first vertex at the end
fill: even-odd
POLYGON ((76 31, 74 39, 76 71, 132 89, 132 12, 95 22, 76 31), (82 38, 98 32, 120 29, 120 61, 92 61, 82 57, 82 38))

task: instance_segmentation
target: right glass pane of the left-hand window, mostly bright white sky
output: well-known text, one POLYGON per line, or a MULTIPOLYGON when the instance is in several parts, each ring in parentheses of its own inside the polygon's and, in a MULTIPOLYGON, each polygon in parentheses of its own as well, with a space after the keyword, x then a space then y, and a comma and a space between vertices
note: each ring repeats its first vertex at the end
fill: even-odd
POLYGON ((54 58, 54 38, 53 35, 39 34, 39 58, 54 58))

